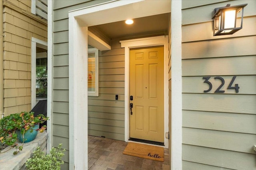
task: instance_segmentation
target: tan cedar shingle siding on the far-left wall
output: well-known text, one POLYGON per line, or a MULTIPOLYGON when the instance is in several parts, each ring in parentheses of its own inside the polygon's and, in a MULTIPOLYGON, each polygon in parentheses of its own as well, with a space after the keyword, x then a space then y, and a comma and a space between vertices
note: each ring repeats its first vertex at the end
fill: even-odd
POLYGON ((30 15, 31 1, 4 1, 5 116, 31 110, 31 37, 47 42, 47 23, 30 15))

